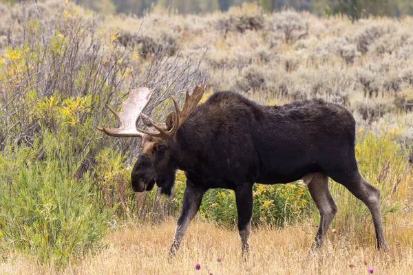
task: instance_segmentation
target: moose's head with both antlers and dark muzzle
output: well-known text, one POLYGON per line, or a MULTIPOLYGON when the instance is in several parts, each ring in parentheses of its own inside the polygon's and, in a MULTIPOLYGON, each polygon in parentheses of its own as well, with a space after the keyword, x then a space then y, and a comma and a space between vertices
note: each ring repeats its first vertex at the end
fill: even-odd
POLYGON ((156 183, 162 194, 171 195, 178 168, 176 156, 179 154, 179 146, 176 142, 176 133, 191 116, 205 89, 206 85, 203 84, 195 86, 191 96, 187 91, 182 110, 172 98, 175 111, 169 113, 165 123, 162 124, 153 122, 151 118, 142 113, 153 94, 148 88, 131 89, 127 100, 122 100, 120 113, 107 106, 118 118, 119 127, 96 127, 99 131, 114 137, 142 138, 142 153, 138 156, 131 173, 132 189, 135 192, 152 190, 156 183), (136 127, 138 118, 142 119, 148 131, 136 127))

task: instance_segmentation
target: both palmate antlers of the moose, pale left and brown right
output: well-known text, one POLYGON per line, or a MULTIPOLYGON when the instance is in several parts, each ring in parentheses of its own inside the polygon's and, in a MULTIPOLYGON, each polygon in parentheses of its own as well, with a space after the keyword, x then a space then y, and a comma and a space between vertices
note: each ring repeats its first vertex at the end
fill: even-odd
POLYGON ((151 118, 142 113, 142 110, 145 108, 147 102, 149 102, 149 99, 152 96, 152 91, 147 88, 138 88, 131 90, 129 92, 129 97, 127 98, 127 100, 122 100, 122 111, 120 111, 120 113, 107 106, 109 110, 112 111, 114 115, 116 115, 116 118, 118 118, 120 122, 120 126, 118 128, 96 128, 99 131, 103 131, 107 135, 112 135, 114 137, 142 137, 143 133, 146 133, 147 135, 151 135, 153 137, 173 137, 173 135, 176 134, 176 131, 178 131, 180 125, 182 125, 185 120, 189 118, 193 109, 195 109, 198 102, 200 102, 206 88, 207 86, 204 84, 195 86, 195 89, 193 89, 191 96, 189 96, 189 91, 187 91, 182 111, 180 111, 178 104, 172 98, 175 111, 168 115, 172 120, 172 126, 169 131, 165 131, 162 126, 156 124, 156 122, 153 122, 151 118), (139 116, 142 118, 142 120, 147 122, 145 124, 151 124, 151 126, 157 129, 159 133, 153 133, 136 128, 136 120, 138 120, 139 116))

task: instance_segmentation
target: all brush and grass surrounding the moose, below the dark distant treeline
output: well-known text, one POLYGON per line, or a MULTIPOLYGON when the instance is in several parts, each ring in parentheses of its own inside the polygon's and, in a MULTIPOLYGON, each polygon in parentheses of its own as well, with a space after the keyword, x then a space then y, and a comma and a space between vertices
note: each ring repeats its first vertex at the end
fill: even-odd
POLYGON ((413 271, 413 19, 268 14, 245 4, 202 16, 94 14, 61 1, 0 5, 0 271, 5 274, 410 274, 413 271), (240 258, 233 193, 211 190, 167 261, 182 192, 133 194, 139 140, 104 137, 129 87, 171 95, 206 81, 262 104, 324 98, 357 120, 361 173, 382 190, 390 252, 371 216, 331 183, 339 206, 311 254, 318 214, 306 187, 255 186, 251 256, 240 258), (172 216, 172 217, 170 217, 172 216), (220 258, 221 261, 217 261, 220 258), (201 269, 195 270, 196 263, 201 269))

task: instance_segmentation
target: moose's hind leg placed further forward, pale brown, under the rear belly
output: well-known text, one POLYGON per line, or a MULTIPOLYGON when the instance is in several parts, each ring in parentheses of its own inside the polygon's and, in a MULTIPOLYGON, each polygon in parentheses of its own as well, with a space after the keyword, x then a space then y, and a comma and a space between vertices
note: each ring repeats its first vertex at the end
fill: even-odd
POLYGON ((310 195, 319 210, 319 228, 312 245, 313 250, 321 247, 324 236, 330 227, 332 219, 337 213, 337 206, 328 190, 328 177, 321 173, 312 173, 304 176, 304 183, 308 185, 310 195))

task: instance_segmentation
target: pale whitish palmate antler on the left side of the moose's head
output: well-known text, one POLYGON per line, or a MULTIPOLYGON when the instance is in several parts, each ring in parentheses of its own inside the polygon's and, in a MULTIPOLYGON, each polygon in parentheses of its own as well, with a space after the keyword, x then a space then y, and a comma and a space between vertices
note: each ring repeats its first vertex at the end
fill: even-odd
POLYGON ((120 122, 119 128, 109 127, 105 129, 96 127, 96 129, 113 137, 142 137, 142 131, 136 128, 136 120, 138 120, 151 96, 152 91, 148 88, 131 89, 127 100, 122 100, 122 111, 120 113, 106 105, 118 118, 120 122))

